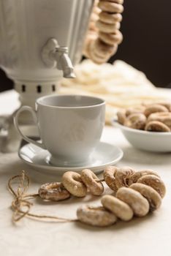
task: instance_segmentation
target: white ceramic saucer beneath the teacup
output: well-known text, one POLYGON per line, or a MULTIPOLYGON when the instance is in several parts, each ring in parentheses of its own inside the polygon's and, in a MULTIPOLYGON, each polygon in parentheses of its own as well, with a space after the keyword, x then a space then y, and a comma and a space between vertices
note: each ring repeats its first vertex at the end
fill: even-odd
POLYGON ((93 170, 94 173, 99 173, 104 167, 117 163, 123 157, 123 151, 121 148, 109 143, 100 142, 94 153, 91 154, 91 163, 88 162, 88 165, 75 167, 51 165, 48 162, 50 158, 49 152, 31 143, 20 148, 18 156, 23 162, 34 168, 34 170, 51 175, 61 175, 68 170, 79 172, 86 168, 93 170))

